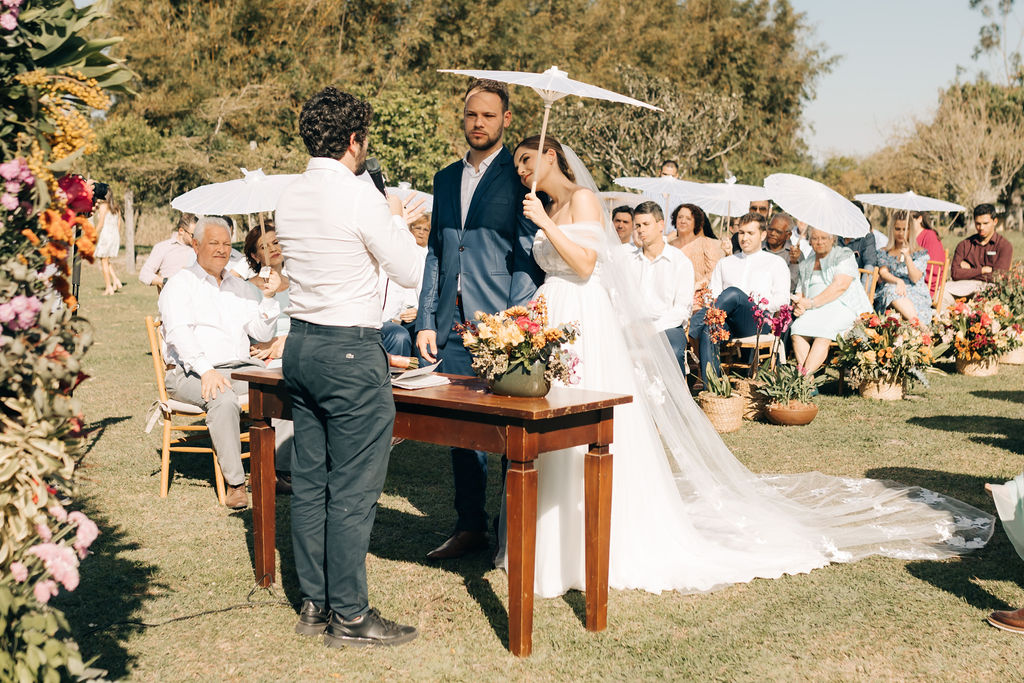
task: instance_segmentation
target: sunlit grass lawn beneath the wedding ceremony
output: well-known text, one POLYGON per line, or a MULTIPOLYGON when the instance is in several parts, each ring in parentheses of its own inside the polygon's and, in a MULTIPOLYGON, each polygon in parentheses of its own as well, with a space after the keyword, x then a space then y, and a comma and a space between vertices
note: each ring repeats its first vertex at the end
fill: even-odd
MULTIPOLYGON (((539 599, 534 655, 518 659, 506 650, 505 574, 484 555, 443 566, 424 560, 453 524, 451 473, 445 450, 411 442, 392 455, 368 566, 372 604, 416 625, 420 638, 357 651, 296 636, 287 499, 278 509, 281 584, 250 598, 251 512, 217 504, 209 457, 174 457, 170 495, 159 496, 159 430, 143 431, 156 393, 143 317, 156 310, 156 290, 124 280, 125 290, 102 297, 89 267, 82 287, 96 343, 80 395, 97 431, 77 504, 102 536, 79 589, 58 600, 85 655, 98 657, 111 678, 1024 677, 1024 637, 983 621, 992 609, 1024 605, 1024 562, 1001 528, 963 559, 871 558, 709 595, 612 591, 600 634, 584 629, 582 594, 539 599)), ((984 482, 1024 469, 1022 399, 1024 368, 1006 366, 992 378, 936 376, 930 389, 895 404, 826 389, 811 425, 746 423, 726 441, 755 471, 890 478, 994 512, 984 482)))

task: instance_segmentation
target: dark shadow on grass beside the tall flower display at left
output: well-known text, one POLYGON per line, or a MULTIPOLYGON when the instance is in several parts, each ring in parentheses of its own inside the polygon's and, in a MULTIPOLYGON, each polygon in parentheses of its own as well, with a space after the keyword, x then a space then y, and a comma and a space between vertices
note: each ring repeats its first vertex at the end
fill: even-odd
POLYGON ((79 567, 81 584, 72 593, 61 593, 56 606, 65 611, 82 657, 105 669, 111 680, 130 673, 134 656, 125 643, 142 627, 126 624, 142 611, 143 604, 167 586, 155 583, 157 567, 132 559, 140 549, 121 526, 86 502, 83 512, 100 528, 91 554, 79 567))

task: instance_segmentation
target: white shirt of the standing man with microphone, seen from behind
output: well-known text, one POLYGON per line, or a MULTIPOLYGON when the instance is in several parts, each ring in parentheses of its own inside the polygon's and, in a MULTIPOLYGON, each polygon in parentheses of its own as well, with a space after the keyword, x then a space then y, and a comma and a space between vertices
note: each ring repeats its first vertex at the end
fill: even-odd
POLYGON ((377 188, 341 162, 315 157, 278 202, 289 316, 341 327, 381 327, 380 272, 416 287, 423 257, 406 221, 377 188))

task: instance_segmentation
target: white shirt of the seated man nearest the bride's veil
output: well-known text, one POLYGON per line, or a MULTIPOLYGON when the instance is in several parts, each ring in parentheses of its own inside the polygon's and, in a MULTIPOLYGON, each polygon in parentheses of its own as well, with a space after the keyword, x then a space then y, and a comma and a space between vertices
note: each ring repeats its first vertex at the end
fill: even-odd
POLYGON ((693 308, 693 264, 686 254, 665 245, 654 260, 637 249, 633 260, 640 275, 640 294, 656 330, 678 328, 693 308))

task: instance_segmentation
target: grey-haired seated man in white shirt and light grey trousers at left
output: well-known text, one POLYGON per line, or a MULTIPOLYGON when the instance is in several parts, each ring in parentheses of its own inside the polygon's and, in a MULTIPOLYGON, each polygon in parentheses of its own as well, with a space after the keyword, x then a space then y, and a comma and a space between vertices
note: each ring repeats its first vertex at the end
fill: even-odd
POLYGON ((227 484, 225 505, 245 508, 246 475, 239 442, 239 397, 245 382, 230 379, 242 368, 263 368, 249 357, 249 338, 268 341, 281 306, 273 298, 281 275, 270 271, 262 290, 227 272, 230 229, 221 218, 200 219, 193 233, 196 262, 167 281, 160 294, 171 397, 206 411, 210 440, 227 484))

